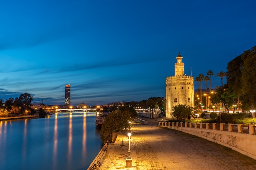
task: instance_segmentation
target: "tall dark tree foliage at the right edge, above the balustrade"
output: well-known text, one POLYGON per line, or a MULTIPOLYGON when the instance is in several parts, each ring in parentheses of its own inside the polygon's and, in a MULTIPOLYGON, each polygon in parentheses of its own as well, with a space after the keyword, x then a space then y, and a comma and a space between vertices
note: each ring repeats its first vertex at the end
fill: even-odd
POLYGON ((227 84, 238 95, 243 110, 256 108, 256 46, 227 65, 227 84))

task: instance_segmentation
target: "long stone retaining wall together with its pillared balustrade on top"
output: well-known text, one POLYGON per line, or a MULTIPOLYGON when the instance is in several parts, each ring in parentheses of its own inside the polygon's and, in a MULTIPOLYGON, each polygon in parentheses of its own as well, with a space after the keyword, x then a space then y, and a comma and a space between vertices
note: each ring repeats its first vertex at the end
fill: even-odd
POLYGON ((159 126, 202 137, 256 159, 256 126, 254 124, 159 122, 159 126))

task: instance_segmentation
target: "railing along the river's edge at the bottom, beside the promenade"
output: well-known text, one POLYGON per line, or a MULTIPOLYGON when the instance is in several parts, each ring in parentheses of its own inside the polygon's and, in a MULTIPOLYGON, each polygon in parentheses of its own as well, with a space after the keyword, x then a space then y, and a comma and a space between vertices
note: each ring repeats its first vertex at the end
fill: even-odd
POLYGON ((87 170, 99 170, 101 164, 108 154, 108 144, 105 144, 97 157, 92 161, 89 168, 87 170))

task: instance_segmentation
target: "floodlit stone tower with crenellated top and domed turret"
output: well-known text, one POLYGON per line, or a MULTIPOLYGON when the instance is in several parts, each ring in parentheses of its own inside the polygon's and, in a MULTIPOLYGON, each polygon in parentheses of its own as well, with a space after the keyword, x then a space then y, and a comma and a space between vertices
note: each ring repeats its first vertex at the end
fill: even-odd
POLYGON ((166 77, 166 117, 171 118, 171 108, 185 104, 194 107, 194 78, 184 74, 182 56, 176 57, 175 75, 166 77))

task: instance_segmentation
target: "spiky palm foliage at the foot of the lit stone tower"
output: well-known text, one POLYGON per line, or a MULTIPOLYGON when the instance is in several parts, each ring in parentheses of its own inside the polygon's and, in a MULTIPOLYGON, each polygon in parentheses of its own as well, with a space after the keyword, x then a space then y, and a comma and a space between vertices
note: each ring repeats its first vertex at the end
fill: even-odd
POLYGON ((191 116, 194 117, 195 109, 191 106, 186 106, 184 104, 179 104, 171 108, 171 116, 178 120, 190 119, 191 116))

